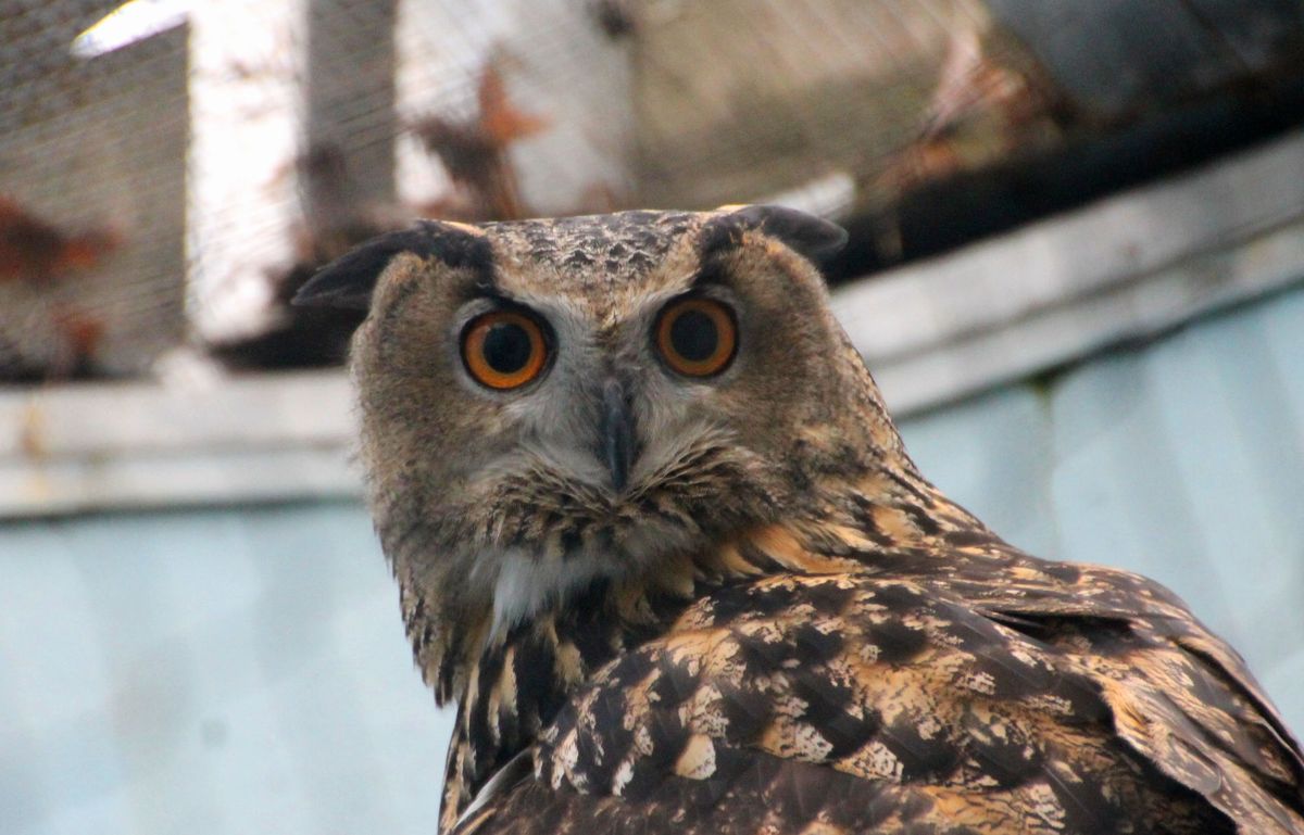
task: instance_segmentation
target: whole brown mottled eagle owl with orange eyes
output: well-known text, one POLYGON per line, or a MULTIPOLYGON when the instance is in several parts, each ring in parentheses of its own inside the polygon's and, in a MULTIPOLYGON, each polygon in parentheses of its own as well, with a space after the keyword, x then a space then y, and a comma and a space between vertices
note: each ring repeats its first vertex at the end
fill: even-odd
POLYGON ((361 460, 443 831, 1304 832, 1297 743, 1171 593, 1034 559, 915 469, 777 207, 424 221, 361 460))

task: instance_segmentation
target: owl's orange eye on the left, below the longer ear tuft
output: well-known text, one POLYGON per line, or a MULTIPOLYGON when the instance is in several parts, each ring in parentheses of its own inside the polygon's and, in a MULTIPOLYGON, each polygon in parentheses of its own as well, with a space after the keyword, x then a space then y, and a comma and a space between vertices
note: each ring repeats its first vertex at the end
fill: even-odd
POLYGON ((548 340, 533 318, 494 310, 462 331, 462 362, 475 380, 506 391, 533 380, 548 363, 548 340))

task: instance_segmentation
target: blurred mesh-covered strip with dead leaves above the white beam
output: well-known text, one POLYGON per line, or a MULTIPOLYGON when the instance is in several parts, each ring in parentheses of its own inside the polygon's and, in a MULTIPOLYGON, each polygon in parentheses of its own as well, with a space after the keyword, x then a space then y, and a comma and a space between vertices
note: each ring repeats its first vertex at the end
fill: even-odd
POLYGON ((339 362, 356 317, 287 300, 415 216, 780 195, 840 212, 833 277, 863 275, 1297 124, 1301 21, 1297 0, 0 0, 0 378, 138 375, 180 347, 339 362))

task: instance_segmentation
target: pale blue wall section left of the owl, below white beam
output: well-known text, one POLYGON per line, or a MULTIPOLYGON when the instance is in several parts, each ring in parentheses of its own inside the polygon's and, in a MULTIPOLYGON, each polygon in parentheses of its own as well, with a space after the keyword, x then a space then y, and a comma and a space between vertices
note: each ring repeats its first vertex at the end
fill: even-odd
POLYGON ((442 716, 361 508, 0 543, 0 831, 434 830, 442 716))

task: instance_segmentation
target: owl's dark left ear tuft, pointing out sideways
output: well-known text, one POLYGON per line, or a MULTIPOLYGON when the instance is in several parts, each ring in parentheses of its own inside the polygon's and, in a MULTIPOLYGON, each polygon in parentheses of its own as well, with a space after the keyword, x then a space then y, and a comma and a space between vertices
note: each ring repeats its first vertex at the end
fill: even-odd
POLYGON ((381 274, 402 253, 476 271, 490 270, 493 261, 489 241, 476 227, 421 220, 413 229, 382 234, 330 262, 299 288, 291 304, 366 310, 381 274))

